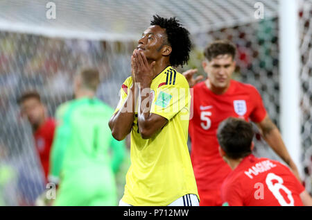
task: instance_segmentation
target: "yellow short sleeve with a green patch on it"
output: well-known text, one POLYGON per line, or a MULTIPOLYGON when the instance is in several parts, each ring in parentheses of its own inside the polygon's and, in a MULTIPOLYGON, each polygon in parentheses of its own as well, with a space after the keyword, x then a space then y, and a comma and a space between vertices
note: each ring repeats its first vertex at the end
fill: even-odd
POLYGON ((185 118, 189 120, 190 104, 191 95, 189 92, 189 85, 180 78, 180 81, 177 79, 176 85, 164 85, 157 88, 150 113, 160 115, 170 120, 177 115, 177 113, 181 112, 182 115, 185 115, 185 118))

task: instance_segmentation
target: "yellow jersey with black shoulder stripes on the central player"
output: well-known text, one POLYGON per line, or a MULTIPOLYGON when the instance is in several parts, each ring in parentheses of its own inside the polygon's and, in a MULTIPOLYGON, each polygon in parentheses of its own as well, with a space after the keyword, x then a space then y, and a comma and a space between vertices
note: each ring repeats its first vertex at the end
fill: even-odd
MULTIPOLYGON (((123 105, 131 85, 130 76, 122 85, 116 111, 123 105)), ((121 200, 130 205, 164 206, 185 194, 198 196, 187 147, 191 105, 189 83, 171 66, 166 67, 153 79, 150 99, 153 100, 150 113, 161 115, 168 122, 153 137, 143 139, 135 111, 131 130, 131 165, 121 200)))

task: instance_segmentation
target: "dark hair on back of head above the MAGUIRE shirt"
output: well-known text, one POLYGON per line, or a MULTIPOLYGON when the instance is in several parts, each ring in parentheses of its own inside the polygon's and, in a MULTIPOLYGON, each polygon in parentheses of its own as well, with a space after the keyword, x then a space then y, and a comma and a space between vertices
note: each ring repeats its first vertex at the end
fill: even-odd
POLYGON ((243 119, 229 117, 222 121, 218 126, 217 137, 221 149, 229 158, 245 158, 252 153, 254 131, 252 124, 243 119))

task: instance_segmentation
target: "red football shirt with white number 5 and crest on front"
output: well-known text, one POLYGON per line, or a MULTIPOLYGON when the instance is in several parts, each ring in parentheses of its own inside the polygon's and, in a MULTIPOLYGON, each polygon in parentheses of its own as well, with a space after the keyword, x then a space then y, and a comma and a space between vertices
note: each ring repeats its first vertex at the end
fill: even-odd
POLYGON ((218 151, 218 125, 228 117, 260 122, 266 109, 257 89, 232 80, 227 92, 214 94, 205 82, 193 87, 193 117, 189 122, 191 161, 198 191, 220 190, 231 169, 218 151))

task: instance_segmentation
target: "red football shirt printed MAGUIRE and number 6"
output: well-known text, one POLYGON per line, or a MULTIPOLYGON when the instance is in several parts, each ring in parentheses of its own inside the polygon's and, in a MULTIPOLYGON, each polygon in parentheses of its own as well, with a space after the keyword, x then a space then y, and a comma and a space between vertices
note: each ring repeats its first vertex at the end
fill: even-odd
POLYGON ((304 187, 284 164, 268 158, 245 157, 221 187, 223 203, 231 206, 303 205, 304 187))

